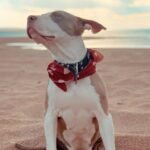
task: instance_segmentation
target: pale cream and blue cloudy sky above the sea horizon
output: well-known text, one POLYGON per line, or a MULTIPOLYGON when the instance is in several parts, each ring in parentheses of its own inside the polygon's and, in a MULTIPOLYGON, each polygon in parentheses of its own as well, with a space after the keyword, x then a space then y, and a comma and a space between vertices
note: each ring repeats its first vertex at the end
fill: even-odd
POLYGON ((108 29, 150 28, 150 0, 0 0, 0 28, 25 28, 28 15, 64 10, 108 29))

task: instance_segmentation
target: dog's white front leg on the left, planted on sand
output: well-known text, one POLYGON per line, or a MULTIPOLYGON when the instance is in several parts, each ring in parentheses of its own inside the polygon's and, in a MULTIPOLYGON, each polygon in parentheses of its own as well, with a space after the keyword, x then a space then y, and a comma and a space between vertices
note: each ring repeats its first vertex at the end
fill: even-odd
MULTIPOLYGON (((48 101, 48 99, 46 99, 46 101, 48 101)), ((48 102, 46 103, 48 104, 48 102)), ((50 104, 47 107, 44 118, 44 131, 46 138, 46 150, 56 150, 57 113, 54 104, 50 104)))

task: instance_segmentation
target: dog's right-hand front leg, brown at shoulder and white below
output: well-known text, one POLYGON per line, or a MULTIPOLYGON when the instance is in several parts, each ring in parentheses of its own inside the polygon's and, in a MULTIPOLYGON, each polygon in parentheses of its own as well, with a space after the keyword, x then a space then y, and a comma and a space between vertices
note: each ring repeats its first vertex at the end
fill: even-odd
POLYGON ((91 77, 91 83, 99 95, 97 104, 96 118, 99 124, 100 134, 104 143, 105 150, 115 150, 115 134, 113 120, 108 110, 108 101, 103 80, 97 74, 91 77))

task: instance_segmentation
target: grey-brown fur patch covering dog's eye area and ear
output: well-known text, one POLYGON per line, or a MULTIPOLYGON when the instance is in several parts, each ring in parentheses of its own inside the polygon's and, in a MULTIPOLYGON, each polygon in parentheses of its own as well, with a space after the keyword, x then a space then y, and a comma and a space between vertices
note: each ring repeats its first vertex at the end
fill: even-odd
POLYGON ((91 26, 93 33, 106 29, 96 21, 82 19, 64 11, 55 11, 51 13, 50 17, 63 31, 71 36, 80 36, 86 29, 86 24, 91 26))

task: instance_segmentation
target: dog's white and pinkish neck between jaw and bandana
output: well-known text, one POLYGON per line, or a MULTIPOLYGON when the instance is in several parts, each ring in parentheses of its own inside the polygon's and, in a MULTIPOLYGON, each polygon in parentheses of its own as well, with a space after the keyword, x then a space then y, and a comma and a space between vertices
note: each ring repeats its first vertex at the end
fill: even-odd
POLYGON ((81 36, 69 36, 46 43, 54 59, 61 63, 76 63, 83 59, 87 49, 81 36))

